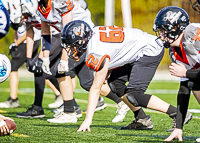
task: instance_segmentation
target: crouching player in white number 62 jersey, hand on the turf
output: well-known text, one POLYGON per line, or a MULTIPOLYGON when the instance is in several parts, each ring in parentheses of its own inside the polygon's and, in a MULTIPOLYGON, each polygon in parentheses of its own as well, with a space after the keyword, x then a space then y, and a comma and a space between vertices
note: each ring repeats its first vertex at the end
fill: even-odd
POLYGON ((98 26, 92 30, 78 20, 64 27, 61 39, 71 58, 78 60, 86 52, 86 65, 96 71, 86 118, 78 131, 90 131, 99 93, 108 76, 112 88, 127 104, 158 110, 171 118, 176 116, 174 106, 144 93, 164 54, 163 44, 156 36, 118 26, 98 26), (127 87, 122 88, 122 83, 125 85, 127 81, 127 87))

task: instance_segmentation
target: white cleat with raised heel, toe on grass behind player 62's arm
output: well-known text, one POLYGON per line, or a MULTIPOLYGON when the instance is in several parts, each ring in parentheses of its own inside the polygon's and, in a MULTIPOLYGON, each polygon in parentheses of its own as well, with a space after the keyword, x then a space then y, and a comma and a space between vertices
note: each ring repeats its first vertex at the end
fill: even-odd
POLYGON ((117 123, 117 122, 123 122, 127 112, 130 110, 130 108, 123 102, 119 102, 117 104, 117 111, 116 113, 118 113, 115 118, 112 120, 113 123, 117 123))

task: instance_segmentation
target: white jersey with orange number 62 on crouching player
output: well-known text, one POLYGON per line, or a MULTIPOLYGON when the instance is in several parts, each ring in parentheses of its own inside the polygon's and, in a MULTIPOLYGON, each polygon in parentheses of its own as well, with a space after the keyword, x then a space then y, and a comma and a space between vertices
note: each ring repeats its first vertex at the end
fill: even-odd
POLYGON ((104 59, 110 59, 109 69, 137 61, 140 57, 157 56, 163 44, 156 36, 135 28, 118 26, 95 27, 88 43, 86 65, 95 71, 104 59))

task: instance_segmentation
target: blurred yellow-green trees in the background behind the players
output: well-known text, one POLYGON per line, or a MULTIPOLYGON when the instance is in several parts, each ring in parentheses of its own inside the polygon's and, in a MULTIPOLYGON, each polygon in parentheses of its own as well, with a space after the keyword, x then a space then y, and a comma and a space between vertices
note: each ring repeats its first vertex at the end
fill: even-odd
MULTIPOLYGON (((88 9, 91 12, 91 17, 96 26, 104 25, 104 11, 105 0, 86 0, 88 3, 88 9)), ((132 26, 139 28, 150 34, 154 34, 152 27, 154 18, 159 10, 166 6, 179 6, 185 9, 191 22, 200 22, 200 15, 198 15, 193 9, 189 0, 130 0, 131 2, 131 14, 132 14, 132 26)), ((115 25, 123 26, 121 0, 115 0, 115 25)), ((9 45, 14 41, 14 31, 10 28, 10 31, 6 37, 0 39, 0 53, 9 55, 9 45)), ((168 49, 165 49, 164 58, 159 66, 160 70, 165 70, 170 64, 168 56, 168 49)))

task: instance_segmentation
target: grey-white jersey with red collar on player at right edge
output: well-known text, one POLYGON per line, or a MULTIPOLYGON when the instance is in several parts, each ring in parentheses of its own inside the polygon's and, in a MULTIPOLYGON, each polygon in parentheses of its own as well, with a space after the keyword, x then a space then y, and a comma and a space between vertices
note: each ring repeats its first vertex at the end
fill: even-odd
MULTIPOLYGON (((182 63, 189 69, 200 68, 200 24, 191 23, 183 32, 180 48, 170 47, 172 61, 182 63)), ((181 78, 181 81, 188 80, 181 78)))

